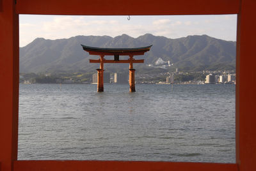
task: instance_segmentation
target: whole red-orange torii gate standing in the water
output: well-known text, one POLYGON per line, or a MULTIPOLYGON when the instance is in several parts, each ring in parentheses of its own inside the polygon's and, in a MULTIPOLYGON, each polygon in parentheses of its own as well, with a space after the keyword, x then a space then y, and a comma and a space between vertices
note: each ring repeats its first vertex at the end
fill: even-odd
POLYGON ((138 47, 138 48, 99 48, 99 47, 88 47, 81 45, 83 50, 89 52, 90 55, 100 56, 100 59, 90 59, 90 63, 100 63, 100 68, 97 69, 98 81, 97 81, 97 91, 104 91, 103 82, 103 72, 104 63, 129 63, 129 85, 130 92, 135 92, 135 70, 133 69, 133 63, 144 63, 144 59, 134 59, 133 56, 144 55, 145 52, 149 51, 152 45, 148 47, 138 47), (104 56, 114 56, 114 60, 106 60, 104 56), (129 56, 127 60, 119 60, 119 56, 129 56))

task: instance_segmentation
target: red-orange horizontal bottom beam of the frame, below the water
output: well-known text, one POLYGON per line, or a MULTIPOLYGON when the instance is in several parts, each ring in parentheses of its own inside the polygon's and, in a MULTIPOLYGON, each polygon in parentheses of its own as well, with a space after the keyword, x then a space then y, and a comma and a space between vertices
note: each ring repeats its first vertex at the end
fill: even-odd
POLYGON ((163 161, 15 161, 15 171, 71 171, 71 170, 179 170, 179 171, 238 171, 237 164, 186 163, 163 161), (97 168, 97 169, 95 169, 97 168))

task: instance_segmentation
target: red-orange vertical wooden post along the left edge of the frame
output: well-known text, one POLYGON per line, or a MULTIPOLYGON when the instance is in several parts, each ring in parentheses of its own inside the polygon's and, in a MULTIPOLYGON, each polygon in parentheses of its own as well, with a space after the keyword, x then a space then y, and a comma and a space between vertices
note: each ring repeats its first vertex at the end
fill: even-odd
POLYGON ((0 0, 0 170, 17 161, 19 113, 19 15, 15 1, 0 0))

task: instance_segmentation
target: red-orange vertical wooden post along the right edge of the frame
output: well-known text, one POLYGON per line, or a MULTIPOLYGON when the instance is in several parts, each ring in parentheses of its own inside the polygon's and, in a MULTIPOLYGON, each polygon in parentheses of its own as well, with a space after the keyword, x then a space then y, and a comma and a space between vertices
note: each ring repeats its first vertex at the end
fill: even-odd
POLYGON ((255 0, 241 1, 237 15, 236 163, 240 171, 256 170, 255 6, 255 0))

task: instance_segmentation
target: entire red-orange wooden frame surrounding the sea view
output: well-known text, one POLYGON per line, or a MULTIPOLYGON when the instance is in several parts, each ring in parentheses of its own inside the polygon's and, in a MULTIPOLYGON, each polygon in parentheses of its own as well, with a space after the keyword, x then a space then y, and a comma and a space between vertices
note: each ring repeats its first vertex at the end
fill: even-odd
POLYGON ((0 0, 0 170, 256 170, 255 0, 0 0), (15 4, 16 2, 16 4, 15 4), (237 15, 236 163, 17 161, 19 14, 237 15))

